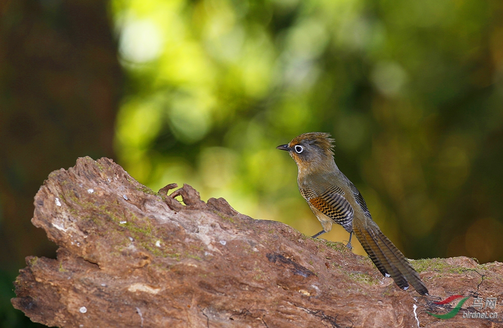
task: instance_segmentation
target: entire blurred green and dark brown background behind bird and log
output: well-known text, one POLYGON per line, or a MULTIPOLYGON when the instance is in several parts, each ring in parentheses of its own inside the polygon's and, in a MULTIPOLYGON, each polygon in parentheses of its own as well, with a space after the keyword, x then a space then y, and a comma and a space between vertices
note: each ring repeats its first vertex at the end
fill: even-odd
POLYGON ((407 257, 503 261, 499 0, 1 0, 0 15, 2 327, 30 324, 9 301, 24 257, 55 256, 33 197, 86 155, 312 235, 275 147, 329 132, 407 257))

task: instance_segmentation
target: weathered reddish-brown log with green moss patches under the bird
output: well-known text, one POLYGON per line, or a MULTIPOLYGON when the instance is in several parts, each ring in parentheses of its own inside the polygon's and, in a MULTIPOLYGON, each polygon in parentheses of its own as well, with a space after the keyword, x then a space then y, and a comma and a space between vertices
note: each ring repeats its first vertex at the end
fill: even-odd
MULTIPOLYGON (((496 327, 503 264, 457 257, 411 261, 431 295, 400 290, 342 243, 254 220, 184 185, 141 185, 107 158, 54 171, 32 223, 57 259, 27 257, 14 307, 58 327, 496 327), (181 196, 183 203, 177 198, 181 196), (450 319, 449 312, 470 296, 450 319), (494 309, 473 298, 496 297, 494 309)), ((503 313, 498 313, 503 316, 503 313)))

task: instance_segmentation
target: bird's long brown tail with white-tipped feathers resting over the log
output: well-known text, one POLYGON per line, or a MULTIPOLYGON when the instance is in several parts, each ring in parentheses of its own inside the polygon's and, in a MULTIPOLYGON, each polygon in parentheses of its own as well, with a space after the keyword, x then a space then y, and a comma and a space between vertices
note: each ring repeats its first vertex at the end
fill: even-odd
POLYGON ((403 290, 410 283, 418 293, 428 295, 428 289, 419 274, 379 227, 374 222, 364 226, 353 226, 355 235, 383 276, 391 276, 403 290))

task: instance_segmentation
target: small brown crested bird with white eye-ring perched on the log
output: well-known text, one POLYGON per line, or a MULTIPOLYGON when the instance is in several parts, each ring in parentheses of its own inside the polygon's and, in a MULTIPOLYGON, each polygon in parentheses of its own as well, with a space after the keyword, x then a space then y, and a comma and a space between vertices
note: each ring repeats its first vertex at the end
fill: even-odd
POLYGON ((352 248, 351 237, 355 234, 383 276, 393 278, 403 290, 410 283, 418 293, 428 295, 420 275, 372 220, 362 194, 337 167, 333 142, 328 133, 310 132, 276 147, 295 160, 300 194, 323 228, 312 238, 329 232, 332 224, 339 224, 350 233, 348 248, 352 248))

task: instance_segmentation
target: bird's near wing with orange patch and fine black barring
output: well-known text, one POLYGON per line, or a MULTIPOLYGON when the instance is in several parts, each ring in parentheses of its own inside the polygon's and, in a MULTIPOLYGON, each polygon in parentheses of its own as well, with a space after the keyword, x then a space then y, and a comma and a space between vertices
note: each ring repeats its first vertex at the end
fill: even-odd
POLYGON ((330 217, 348 232, 353 230, 353 207, 344 198, 344 191, 337 185, 332 185, 324 192, 313 188, 300 188, 300 193, 309 205, 322 214, 330 217))

